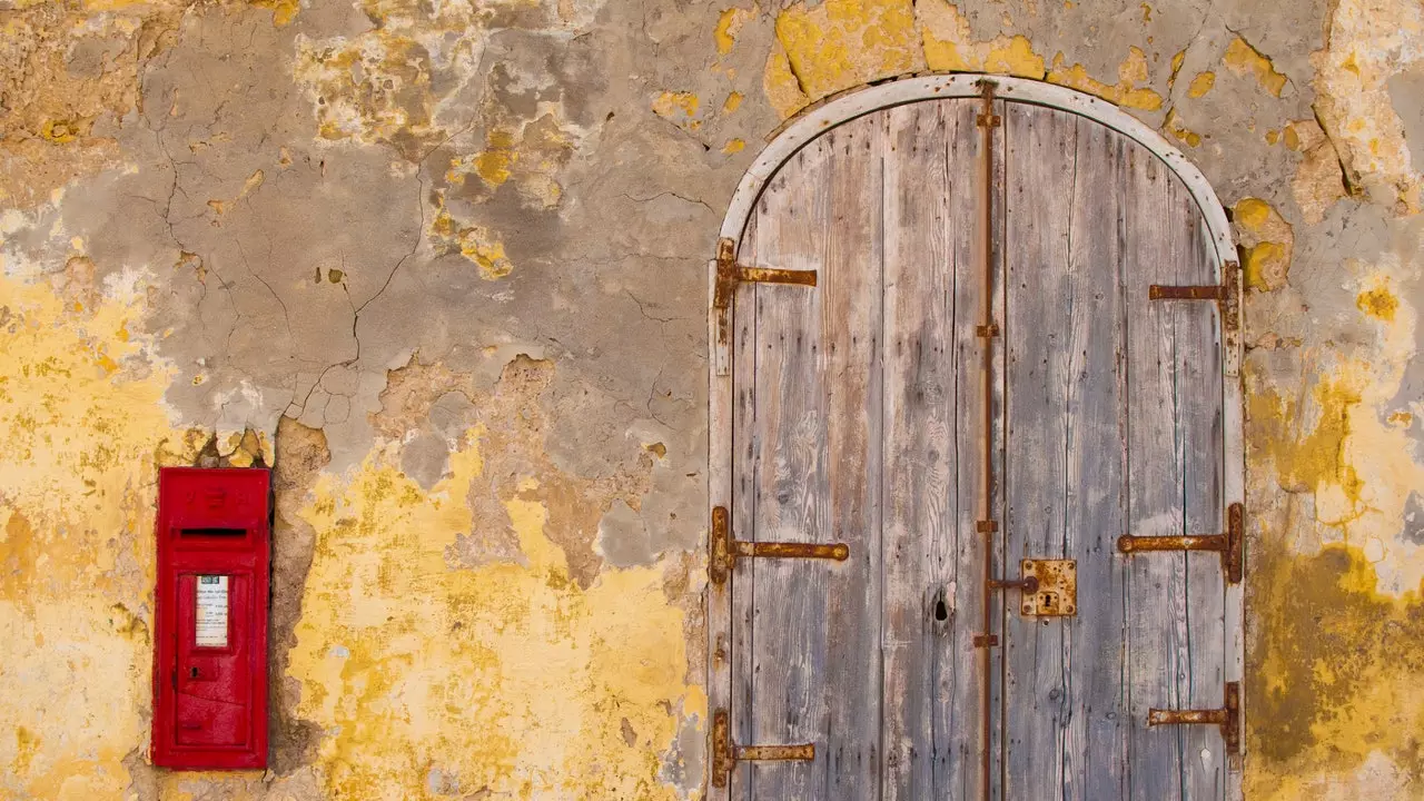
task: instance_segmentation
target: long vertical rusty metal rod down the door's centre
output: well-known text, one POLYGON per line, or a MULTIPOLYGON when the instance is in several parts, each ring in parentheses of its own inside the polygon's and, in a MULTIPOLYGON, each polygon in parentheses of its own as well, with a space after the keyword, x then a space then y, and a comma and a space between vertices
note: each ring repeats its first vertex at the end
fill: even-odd
POLYGON ((980 455, 984 460, 983 493, 980 495, 980 529, 984 532, 984 617, 983 637, 984 647, 980 650, 980 788, 983 801, 990 801, 991 782, 990 755, 993 744, 993 715, 990 704, 993 701, 993 680, 990 671, 994 666, 994 616, 991 613, 994 600, 994 252, 991 239, 994 234, 994 83, 980 81, 983 110, 978 115, 980 128, 980 227, 978 247, 980 259, 984 268, 984 314, 980 319, 980 341, 983 353, 981 383, 984 391, 984 428, 980 432, 980 455))

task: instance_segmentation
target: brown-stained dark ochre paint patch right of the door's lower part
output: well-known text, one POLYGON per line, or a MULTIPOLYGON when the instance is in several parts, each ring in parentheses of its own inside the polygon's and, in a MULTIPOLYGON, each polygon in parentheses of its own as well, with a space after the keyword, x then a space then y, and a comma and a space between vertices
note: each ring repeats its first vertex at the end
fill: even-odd
POLYGON ((1424 781, 1418 594, 1380 594, 1358 547, 1303 556, 1272 532, 1252 574, 1247 603, 1260 637, 1246 671, 1246 797, 1413 797, 1405 785, 1424 781))

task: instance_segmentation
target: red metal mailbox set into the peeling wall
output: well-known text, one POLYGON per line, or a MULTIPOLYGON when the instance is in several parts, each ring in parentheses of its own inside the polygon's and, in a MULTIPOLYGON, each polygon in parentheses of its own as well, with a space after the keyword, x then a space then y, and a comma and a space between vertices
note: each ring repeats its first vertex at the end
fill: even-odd
POLYGON ((155 765, 265 768, 266 470, 158 473, 155 765))

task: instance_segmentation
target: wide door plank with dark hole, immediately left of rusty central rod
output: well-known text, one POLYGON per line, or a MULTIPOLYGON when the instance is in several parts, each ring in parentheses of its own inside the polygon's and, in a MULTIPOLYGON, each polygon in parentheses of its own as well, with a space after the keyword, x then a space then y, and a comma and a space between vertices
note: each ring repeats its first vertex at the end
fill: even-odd
POLYGON ((884 271, 886 801, 977 798, 975 103, 889 113, 884 271))

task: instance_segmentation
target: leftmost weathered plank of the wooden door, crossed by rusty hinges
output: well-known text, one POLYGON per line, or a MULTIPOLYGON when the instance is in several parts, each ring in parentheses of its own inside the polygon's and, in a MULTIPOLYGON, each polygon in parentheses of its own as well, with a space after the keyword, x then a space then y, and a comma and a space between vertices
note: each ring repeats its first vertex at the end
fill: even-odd
MULTIPOLYGON (((807 145, 762 200, 758 265, 820 269, 830 225, 830 145, 807 145)), ((745 540, 827 542, 824 409, 816 376, 820 291, 756 285, 758 445, 752 486, 753 522, 745 540)), ((749 664, 739 676, 752 686, 749 731, 742 745, 816 743, 824 734, 824 580, 819 564, 743 560, 738 586, 752 590, 749 664)), ((738 590, 740 594, 740 590, 738 590)), ((736 603, 742 603, 738 600, 736 603)), ((750 763, 748 798, 816 798, 810 765, 750 763)))

